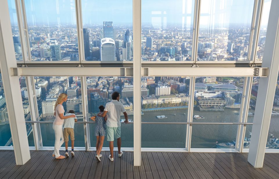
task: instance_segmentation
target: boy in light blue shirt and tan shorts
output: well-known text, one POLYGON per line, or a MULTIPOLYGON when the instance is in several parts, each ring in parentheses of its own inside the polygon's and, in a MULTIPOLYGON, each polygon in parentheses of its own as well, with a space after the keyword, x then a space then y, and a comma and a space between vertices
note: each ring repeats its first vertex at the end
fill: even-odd
MULTIPOLYGON (((65 114, 65 116, 70 116, 74 114, 75 112, 73 110, 69 110, 68 114, 65 114)), ((75 133, 74 133, 74 125, 75 122, 77 122, 77 116, 75 116, 74 118, 68 118, 64 120, 64 131, 63 131, 63 135, 64 135, 64 141, 65 141, 65 148, 66 148, 66 153, 65 156, 69 157, 69 153, 68 153, 68 141, 69 141, 69 135, 71 138, 71 147, 72 147, 72 151, 71 151, 71 155, 75 156, 74 153, 74 142, 75 142, 75 133)))

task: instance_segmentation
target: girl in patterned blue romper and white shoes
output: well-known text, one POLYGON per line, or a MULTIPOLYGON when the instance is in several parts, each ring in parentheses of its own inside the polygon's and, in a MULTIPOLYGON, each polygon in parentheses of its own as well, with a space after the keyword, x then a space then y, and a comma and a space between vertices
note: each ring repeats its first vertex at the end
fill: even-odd
MULTIPOLYGON (((99 109, 100 109, 100 112, 98 114, 103 113, 105 107, 100 105, 99 109)), ((104 144, 104 139, 105 139, 105 136, 106 136, 107 115, 104 118, 100 117, 98 115, 97 116, 92 116, 90 119, 96 121, 96 127, 95 127, 95 136, 97 138, 97 141, 96 141, 96 153, 97 153, 96 158, 99 161, 101 161, 100 157, 102 157, 102 155, 100 153, 101 153, 101 150, 102 150, 102 147, 103 147, 103 144, 104 144)))

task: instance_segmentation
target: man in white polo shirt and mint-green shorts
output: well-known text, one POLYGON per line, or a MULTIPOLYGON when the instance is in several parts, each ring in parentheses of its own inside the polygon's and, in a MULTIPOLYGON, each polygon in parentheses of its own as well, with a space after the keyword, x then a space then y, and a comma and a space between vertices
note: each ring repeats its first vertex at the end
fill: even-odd
POLYGON ((113 161, 113 142, 114 138, 117 138, 117 147, 118 147, 118 157, 121 157, 123 152, 120 150, 121 148, 121 128, 120 128, 120 115, 121 112, 124 114, 125 123, 128 123, 128 115, 124 109, 122 103, 119 102, 120 94, 118 92, 114 92, 111 96, 111 102, 107 103, 105 106, 105 110, 102 114, 99 114, 101 117, 107 116, 107 141, 109 141, 109 149, 110 155, 109 160, 113 161))

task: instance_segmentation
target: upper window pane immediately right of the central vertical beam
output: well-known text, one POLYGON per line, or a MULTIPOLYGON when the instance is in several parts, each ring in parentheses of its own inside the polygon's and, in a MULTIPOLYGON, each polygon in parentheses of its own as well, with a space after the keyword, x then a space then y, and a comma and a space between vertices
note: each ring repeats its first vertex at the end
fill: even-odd
POLYGON ((142 61, 191 61, 194 0, 141 4, 142 61))

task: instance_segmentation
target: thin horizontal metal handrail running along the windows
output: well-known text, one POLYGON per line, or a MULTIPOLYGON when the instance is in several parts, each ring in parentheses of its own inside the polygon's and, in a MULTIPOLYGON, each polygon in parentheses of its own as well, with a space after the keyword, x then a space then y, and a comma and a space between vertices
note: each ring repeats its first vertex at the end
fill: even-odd
MULTIPOLYGON (((25 121, 26 123, 53 123, 53 121, 25 121)), ((82 123, 82 124, 87 124, 87 123, 96 123, 93 121, 78 121, 75 123, 82 123)), ((133 124, 134 122, 129 122, 129 123, 125 123, 125 122, 121 122, 123 124, 133 124)), ((231 124, 231 125, 253 125, 253 123, 201 123, 201 122, 141 122, 142 124, 231 124)))

